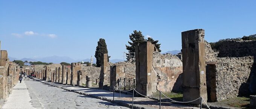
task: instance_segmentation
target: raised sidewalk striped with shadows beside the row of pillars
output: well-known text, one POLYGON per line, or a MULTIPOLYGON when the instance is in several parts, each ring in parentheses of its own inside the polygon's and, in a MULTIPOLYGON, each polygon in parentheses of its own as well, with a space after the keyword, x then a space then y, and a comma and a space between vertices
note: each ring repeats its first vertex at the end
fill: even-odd
MULTIPOLYGON (((55 86, 61 89, 65 89, 67 91, 76 92, 78 94, 87 95, 94 98, 99 98, 101 100, 113 102, 113 92, 102 90, 102 89, 93 89, 93 88, 84 88, 78 86, 71 85, 62 85, 53 82, 47 82, 40 79, 33 78, 42 83, 46 83, 47 85, 55 86)), ((121 106, 132 108, 132 95, 126 95, 121 93, 121 97, 119 97, 119 93, 114 93, 114 103, 119 104, 121 106)), ((169 102, 161 103, 162 109, 199 109, 198 107, 191 107, 186 105, 174 104, 169 102)), ((134 109, 159 109, 159 102, 157 100, 152 100, 150 98, 144 97, 134 97, 134 109)))

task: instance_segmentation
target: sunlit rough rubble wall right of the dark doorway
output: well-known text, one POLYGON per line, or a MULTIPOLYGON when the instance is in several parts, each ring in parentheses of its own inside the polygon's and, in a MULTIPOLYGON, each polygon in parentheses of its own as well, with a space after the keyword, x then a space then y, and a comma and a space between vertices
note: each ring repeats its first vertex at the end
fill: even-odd
POLYGON ((217 100, 250 93, 248 79, 253 63, 253 56, 218 58, 216 65, 217 100))

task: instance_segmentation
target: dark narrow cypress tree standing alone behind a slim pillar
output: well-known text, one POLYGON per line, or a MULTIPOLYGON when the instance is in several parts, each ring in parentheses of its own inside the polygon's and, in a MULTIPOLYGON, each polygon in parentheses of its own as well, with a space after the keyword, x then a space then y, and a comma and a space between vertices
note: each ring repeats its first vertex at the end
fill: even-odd
MULTIPOLYGON (((105 42, 105 39, 100 38, 94 55, 96 58, 97 67, 101 67, 101 58, 102 54, 104 53, 108 53, 107 44, 105 42)), ((108 56, 108 59, 109 58, 110 56, 108 56)))

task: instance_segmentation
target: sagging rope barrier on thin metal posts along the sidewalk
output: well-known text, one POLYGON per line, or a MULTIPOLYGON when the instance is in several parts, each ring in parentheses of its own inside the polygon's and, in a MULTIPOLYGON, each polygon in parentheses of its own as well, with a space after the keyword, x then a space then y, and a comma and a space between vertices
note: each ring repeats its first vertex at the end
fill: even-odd
MULTIPOLYGON (((120 87, 119 87, 119 88, 120 88, 120 87)), ((132 90, 133 90, 133 101, 134 101, 134 91, 137 92, 139 95, 142 95, 142 96, 144 96, 144 97, 147 97, 147 98, 150 97, 150 96, 147 96, 147 95, 140 94, 140 93, 139 93, 138 91, 136 91, 134 88, 133 88, 133 89, 130 89, 130 90, 123 91, 123 90, 120 90, 120 89, 118 89, 118 88, 116 88, 116 87, 114 86, 114 88, 113 88, 113 102, 114 102, 114 92, 115 92, 115 90, 116 90, 116 91, 119 91, 119 93, 120 93, 119 97, 121 97, 121 91, 122 91, 122 92, 128 92, 128 91, 132 91, 132 90)), ((159 91, 159 102, 160 102, 160 104, 159 104, 159 109, 161 109, 161 103, 162 103, 162 102, 161 102, 161 100, 162 100, 161 95, 165 96, 166 98, 168 98, 169 100, 171 100, 171 102, 174 102, 174 103, 191 103, 191 102, 197 101, 197 100, 199 99, 199 100, 200 100, 200 109, 202 109, 202 103, 203 103, 203 102, 206 104, 207 108, 210 109, 210 107, 207 105, 206 101, 204 101, 204 98, 203 98, 203 97, 199 97, 199 98, 197 98, 197 99, 195 99, 195 100, 192 100, 192 101, 182 102, 182 101, 175 101, 175 100, 172 100, 171 98, 169 98, 169 97, 167 97, 165 94, 163 94, 163 92, 161 92, 161 91, 159 91)), ((153 98, 155 98, 155 97, 153 97, 153 98)), ((156 98, 156 99, 158 99, 158 98, 156 98)), ((132 101, 132 109, 133 109, 133 101, 132 101)))

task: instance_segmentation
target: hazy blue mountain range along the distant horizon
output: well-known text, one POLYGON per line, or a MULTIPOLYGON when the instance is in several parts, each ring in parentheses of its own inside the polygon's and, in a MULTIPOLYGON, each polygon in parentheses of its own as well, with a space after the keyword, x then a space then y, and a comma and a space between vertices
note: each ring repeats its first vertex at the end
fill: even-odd
MULTIPOLYGON (((75 60, 72 59, 70 57, 67 56, 49 56, 49 57, 44 57, 44 58, 22 58, 22 59, 17 59, 17 58, 13 58, 11 56, 8 56, 10 61, 14 61, 14 60, 21 60, 21 61, 28 61, 28 62, 37 62, 37 61, 41 61, 41 62, 47 62, 47 63, 55 63, 55 64, 59 64, 61 62, 67 62, 67 63, 72 63, 72 62, 90 62, 91 59, 79 59, 79 60, 75 60)), ((116 63, 116 62, 121 62, 123 60, 121 59, 110 59, 111 63, 116 63)), ((96 58, 93 58, 93 63, 96 63, 96 58)))

